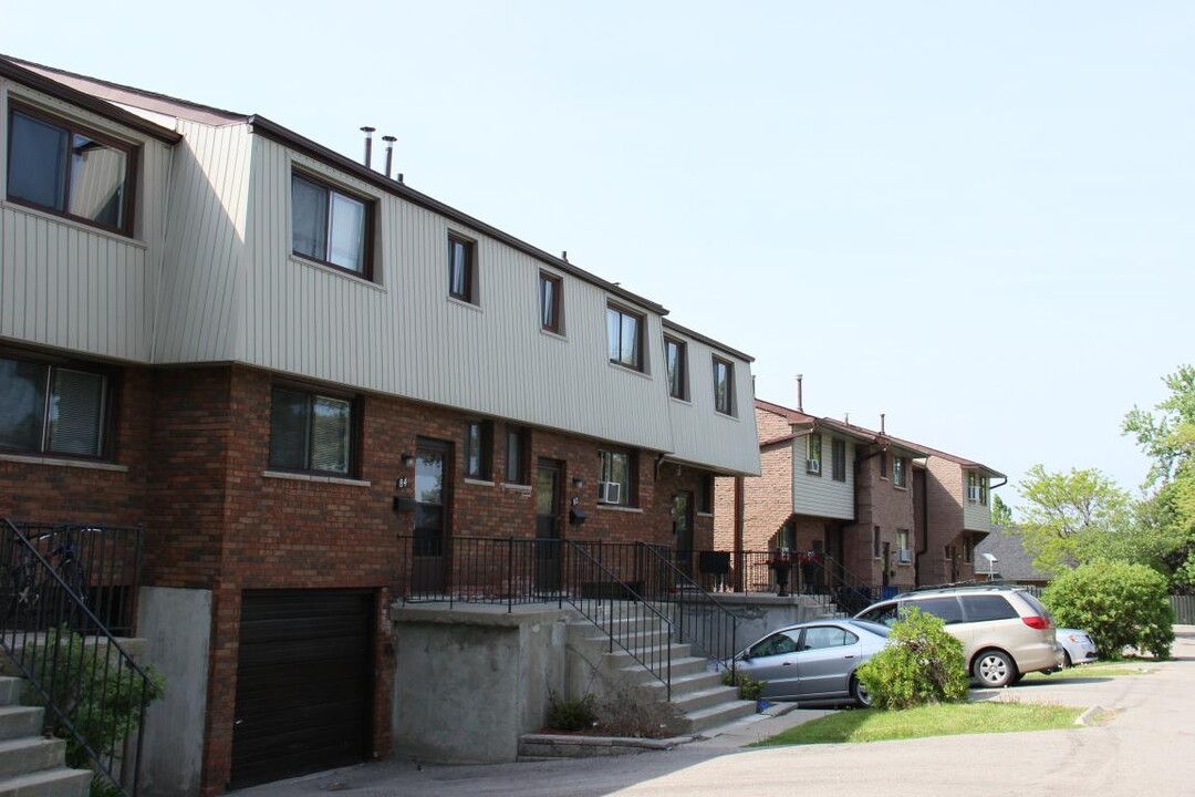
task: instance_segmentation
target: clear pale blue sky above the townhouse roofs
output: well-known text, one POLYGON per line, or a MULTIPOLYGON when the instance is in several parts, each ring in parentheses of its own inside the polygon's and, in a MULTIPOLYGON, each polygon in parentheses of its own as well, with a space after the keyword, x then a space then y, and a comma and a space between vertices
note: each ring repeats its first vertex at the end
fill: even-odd
POLYGON ((760 398, 802 373, 815 415, 1126 489, 1121 419, 1195 361, 1191 42, 1185 1, 0 0, 0 53, 398 136, 411 186, 753 355, 760 398))

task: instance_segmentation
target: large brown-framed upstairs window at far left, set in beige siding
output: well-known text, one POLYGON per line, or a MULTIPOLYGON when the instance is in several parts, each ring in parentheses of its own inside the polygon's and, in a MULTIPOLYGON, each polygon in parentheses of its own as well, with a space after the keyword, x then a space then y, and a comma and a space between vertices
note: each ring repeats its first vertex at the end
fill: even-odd
POLYGON ((13 105, 8 198, 122 234, 133 232, 134 148, 13 105))

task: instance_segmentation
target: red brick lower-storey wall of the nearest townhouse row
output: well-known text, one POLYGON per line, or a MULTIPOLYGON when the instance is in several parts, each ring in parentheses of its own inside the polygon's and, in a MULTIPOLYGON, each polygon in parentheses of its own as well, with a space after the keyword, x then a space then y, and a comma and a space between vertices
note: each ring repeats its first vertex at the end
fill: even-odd
MULTIPOLYGON (((421 437, 452 443, 448 519, 455 538, 535 534, 532 489, 466 482, 461 446, 468 416, 368 396, 362 400, 361 473, 342 482, 266 476, 270 374, 244 367, 125 369, 121 379, 116 462, 123 470, 0 461, 0 515, 30 521, 142 523, 142 583, 210 589, 212 646, 203 793, 228 780, 241 591, 276 588, 369 588, 378 617, 399 583, 413 514, 394 511, 394 495, 413 497, 413 470, 402 464, 421 437), (396 480, 406 478, 398 490, 396 480)), ((502 474, 505 427, 495 423, 492 472, 502 474)), ((562 516, 574 496, 588 515, 560 523, 577 541, 646 541, 674 546, 673 496, 700 492, 706 473, 637 455, 636 508, 599 507, 601 443, 560 433, 529 433, 538 459, 562 462, 562 516), (572 486, 580 478, 584 486, 572 486)), ((695 509, 695 507, 694 507, 695 509)), ((695 513, 693 546, 713 545, 715 517, 695 513)), ((393 646, 376 630, 374 749, 391 748, 393 646)))

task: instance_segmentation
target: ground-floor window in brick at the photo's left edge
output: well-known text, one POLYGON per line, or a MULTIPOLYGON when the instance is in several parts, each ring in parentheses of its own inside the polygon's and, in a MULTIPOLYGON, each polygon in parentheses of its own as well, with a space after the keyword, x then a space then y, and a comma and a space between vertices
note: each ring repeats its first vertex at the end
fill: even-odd
POLYGON ((110 413, 104 373, 0 357, 0 449, 103 456, 110 413))

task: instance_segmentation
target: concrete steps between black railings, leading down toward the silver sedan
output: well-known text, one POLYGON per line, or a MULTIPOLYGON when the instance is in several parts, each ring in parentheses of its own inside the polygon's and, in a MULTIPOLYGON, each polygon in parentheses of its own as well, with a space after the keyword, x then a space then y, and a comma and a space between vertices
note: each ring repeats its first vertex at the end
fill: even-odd
POLYGON ((755 713, 755 703, 740 700, 739 689, 724 686, 721 670, 711 669, 706 658, 693 656, 688 644, 668 642, 667 631, 658 619, 627 617, 614 620, 614 637, 631 652, 618 645, 611 651, 609 638, 583 619, 569 625, 569 645, 586 662, 596 662, 607 682, 642 687, 660 700, 667 697, 664 685, 636 656, 644 661, 652 657, 667 661, 670 657, 670 701, 681 713, 673 729, 676 734, 699 735, 755 713))

